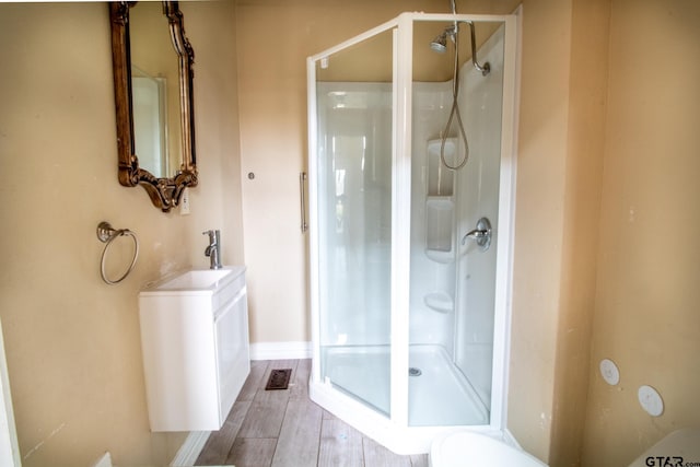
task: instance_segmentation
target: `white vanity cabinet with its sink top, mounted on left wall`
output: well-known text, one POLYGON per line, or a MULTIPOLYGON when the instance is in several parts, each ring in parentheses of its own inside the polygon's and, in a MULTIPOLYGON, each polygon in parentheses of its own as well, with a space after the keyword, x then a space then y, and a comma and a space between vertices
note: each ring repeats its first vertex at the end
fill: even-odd
POLYGON ((139 315, 151 430, 219 430, 250 372, 245 268, 149 285, 139 315))

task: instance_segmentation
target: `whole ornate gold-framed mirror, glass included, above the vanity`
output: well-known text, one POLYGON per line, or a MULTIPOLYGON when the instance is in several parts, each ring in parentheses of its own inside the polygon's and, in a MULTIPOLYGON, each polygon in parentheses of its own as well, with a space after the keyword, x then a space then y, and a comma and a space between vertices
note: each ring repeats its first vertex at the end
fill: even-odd
POLYGON ((197 186, 195 52, 177 1, 110 2, 109 20, 119 183, 167 212, 197 186))

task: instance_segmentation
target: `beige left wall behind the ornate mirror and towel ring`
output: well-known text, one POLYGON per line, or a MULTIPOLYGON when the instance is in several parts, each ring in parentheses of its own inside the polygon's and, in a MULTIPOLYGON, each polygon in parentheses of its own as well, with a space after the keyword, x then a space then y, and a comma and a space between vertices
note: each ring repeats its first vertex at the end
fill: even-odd
POLYGON ((205 229, 222 230, 228 264, 243 262, 243 237, 233 4, 182 9, 200 168, 189 217, 117 182, 107 7, 0 4, 0 318, 25 466, 86 466, 105 451, 118 465, 166 465, 184 439, 149 431, 138 290, 207 267, 205 229), (100 278, 102 220, 141 242, 118 285, 100 278))

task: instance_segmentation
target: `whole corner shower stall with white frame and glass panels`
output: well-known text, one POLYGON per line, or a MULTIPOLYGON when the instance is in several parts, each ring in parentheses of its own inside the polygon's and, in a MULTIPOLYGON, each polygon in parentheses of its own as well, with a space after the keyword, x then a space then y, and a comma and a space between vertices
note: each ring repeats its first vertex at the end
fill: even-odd
POLYGON ((402 13, 307 60, 310 395, 397 453, 505 428, 516 20, 402 13))

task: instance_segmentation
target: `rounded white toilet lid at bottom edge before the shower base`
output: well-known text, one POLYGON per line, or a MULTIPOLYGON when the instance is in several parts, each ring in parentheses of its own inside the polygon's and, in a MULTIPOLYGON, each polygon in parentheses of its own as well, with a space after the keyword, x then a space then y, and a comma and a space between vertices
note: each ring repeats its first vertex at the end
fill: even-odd
POLYGON ((457 431, 436 439, 430 448, 431 467, 546 467, 525 451, 472 431, 457 431))

